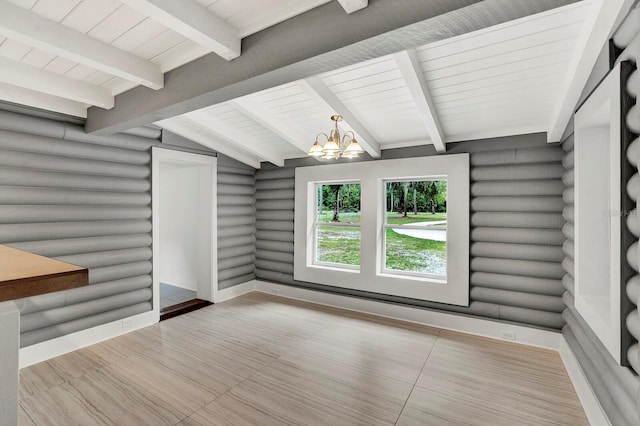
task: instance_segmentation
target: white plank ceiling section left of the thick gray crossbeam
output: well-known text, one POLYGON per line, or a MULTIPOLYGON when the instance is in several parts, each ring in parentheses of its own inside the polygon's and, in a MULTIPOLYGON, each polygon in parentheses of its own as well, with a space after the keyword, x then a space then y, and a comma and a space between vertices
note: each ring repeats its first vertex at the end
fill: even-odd
MULTIPOLYGON (((329 0, 8 0, 0 2, 0 99, 69 115, 86 117, 86 109, 100 101, 143 84, 144 77, 128 72, 144 62, 162 74, 211 53, 192 37, 197 24, 228 24, 240 39, 329 0), (180 9, 191 4, 200 12, 193 16, 167 18, 172 3, 180 9), (152 15, 152 17, 150 16, 152 15), (48 24, 43 28, 43 24, 48 24), (173 25, 169 27, 168 25, 173 25), (191 31, 185 29, 193 25, 191 31), (184 33, 184 34, 183 34, 184 33), (57 43, 56 43, 57 41, 57 43), (105 56, 104 63, 87 58, 83 44, 105 56), (58 44, 57 46, 53 44, 58 44), (109 49, 111 48, 111 49, 109 49), (105 54, 107 52, 107 54, 105 54), (111 56, 108 53, 112 53, 111 56), (113 69, 106 70, 111 65, 113 69), (31 72, 31 79, 21 77, 31 72), (46 80, 47 84, 34 84, 46 80), (63 92, 76 84, 79 93, 63 92), (61 88, 58 88, 61 86, 61 88), (34 90, 38 87, 38 90, 34 90), (35 93, 34 93, 35 92, 35 93)), ((221 35, 221 37, 224 36, 221 35)), ((237 55, 236 55, 237 56, 237 55)), ((109 102, 102 102, 109 108, 109 102)))

